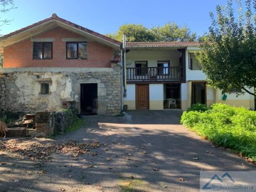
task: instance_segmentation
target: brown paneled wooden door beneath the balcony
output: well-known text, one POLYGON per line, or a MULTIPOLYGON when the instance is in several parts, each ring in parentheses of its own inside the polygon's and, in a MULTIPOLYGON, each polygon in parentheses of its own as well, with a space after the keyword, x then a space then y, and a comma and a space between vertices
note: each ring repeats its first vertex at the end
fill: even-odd
POLYGON ((136 109, 149 110, 149 85, 136 85, 136 109))

